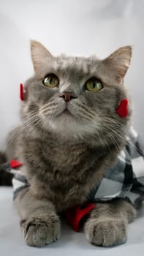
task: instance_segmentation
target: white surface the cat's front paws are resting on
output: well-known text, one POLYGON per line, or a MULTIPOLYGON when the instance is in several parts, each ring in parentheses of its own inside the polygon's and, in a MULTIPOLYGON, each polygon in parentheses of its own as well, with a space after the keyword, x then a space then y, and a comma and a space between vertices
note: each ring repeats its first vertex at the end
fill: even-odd
POLYGON ((12 204, 12 189, 0 187, 0 255, 4 256, 143 256, 144 255, 144 208, 140 217, 129 224, 126 244, 102 248, 88 244, 83 233, 75 233, 66 223, 61 225, 61 238, 56 243, 35 248, 26 246, 20 232, 19 217, 12 204))

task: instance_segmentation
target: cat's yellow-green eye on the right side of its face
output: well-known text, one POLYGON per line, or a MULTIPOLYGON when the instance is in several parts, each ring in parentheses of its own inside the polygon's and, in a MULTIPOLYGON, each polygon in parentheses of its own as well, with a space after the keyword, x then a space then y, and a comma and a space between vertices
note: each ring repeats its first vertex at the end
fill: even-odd
POLYGON ((88 91, 96 92, 102 90, 102 83, 97 78, 91 78, 86 82, 86 89, 88 91))

